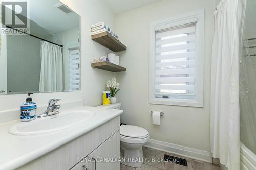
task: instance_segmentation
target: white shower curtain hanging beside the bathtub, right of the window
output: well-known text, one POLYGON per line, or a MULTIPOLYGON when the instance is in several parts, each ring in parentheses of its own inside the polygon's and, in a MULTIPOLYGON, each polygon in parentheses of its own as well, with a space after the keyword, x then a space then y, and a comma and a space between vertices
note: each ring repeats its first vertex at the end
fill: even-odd
POLYGON ((211 152, 229 170, 240 166, 239 59, 242 4, 223 0, 215 11, 211 67, 211 152))

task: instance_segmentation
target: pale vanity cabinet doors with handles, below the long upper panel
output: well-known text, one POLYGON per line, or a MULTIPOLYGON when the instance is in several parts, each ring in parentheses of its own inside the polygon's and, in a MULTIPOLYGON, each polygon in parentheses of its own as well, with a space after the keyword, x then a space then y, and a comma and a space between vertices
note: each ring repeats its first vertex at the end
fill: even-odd
POLYGON ((120 131, 116 132, 71 170, 119 170, 120 131))

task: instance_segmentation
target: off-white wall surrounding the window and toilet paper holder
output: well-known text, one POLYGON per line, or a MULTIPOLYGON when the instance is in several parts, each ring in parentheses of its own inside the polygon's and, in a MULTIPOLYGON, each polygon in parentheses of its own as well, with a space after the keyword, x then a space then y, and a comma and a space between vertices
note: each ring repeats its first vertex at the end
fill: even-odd
POLYGON ((116 33, 126 46, 119 53, 127 72, 117 74, 122 123, 150 131, 152 139, 210 151, 210 62, 213 34, 212 0, 162 0, 116 16, 116 33), (152 21, 205 9, 204 108, 148 104, 148 46, 152 21), (163 111, 161 125, 152 125, 151 110, 163 111))

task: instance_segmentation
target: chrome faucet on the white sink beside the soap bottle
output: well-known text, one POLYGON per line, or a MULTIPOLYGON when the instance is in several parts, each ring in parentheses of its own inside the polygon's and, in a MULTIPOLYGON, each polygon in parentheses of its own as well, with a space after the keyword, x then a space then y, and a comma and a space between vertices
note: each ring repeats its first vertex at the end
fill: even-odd
POLYGON ((59 111, 57 111, 57 109, 60 108, 60 105, 56 105, 58 101, 60 101, 60 99, 50 99, 46 111, 44 111, 44 113, 38 115, 37 117, 41 118, 41 117, 58 114, 59 111))

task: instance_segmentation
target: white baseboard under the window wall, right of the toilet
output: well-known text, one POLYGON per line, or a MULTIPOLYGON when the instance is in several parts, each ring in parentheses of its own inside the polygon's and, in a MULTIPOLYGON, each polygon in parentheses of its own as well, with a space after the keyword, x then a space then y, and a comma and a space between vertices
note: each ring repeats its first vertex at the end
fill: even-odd
POLYGON ((212 154, 208 151, 184 147, 178 144, 167 143, 159 140, 150 139, 145 147, 157 149, 160 151, 173 153, 187 158, 212 163, 212 154))

